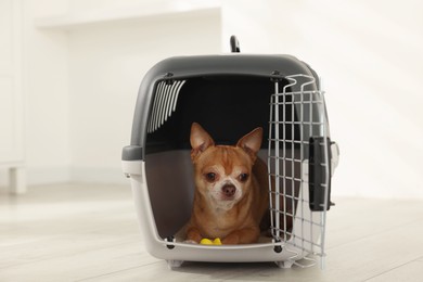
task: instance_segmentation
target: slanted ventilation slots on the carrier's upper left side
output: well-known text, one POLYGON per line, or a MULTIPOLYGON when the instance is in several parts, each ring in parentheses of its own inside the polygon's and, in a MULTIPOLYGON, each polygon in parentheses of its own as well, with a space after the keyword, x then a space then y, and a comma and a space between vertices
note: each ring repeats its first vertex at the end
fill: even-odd
POLYGON ((149 133, 156 131, 175 112, 179 92, 184 84, 185 80, 178 80, 171 85, 166 81, 157 85, 149 120, 149 133))

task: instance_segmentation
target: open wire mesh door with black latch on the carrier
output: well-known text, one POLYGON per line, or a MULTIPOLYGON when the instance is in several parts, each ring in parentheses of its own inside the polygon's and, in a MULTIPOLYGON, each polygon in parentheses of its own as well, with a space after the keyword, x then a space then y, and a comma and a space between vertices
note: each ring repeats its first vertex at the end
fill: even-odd
POLYGON ((329 208, 330 157, 322 91, 311 76, 274 81, 270 102, 268 167, 271 232, 290 260, 300 266, 324 258, 325 213, 329 208), (292 91, 292 89, 297 89, 292 91), (309 256, 313 255, 313 256, 309 256))

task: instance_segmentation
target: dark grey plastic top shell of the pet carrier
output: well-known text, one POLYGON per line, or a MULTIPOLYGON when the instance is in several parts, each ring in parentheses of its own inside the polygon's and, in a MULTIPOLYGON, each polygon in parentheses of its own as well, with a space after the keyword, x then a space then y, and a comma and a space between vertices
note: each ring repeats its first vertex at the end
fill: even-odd
MULTIPOLYGON (((234 44, 233 50, 236 52, 239 46, 234 44)), ((319 89, 316 72, 292 55, 231 53, 165 59, 154 65, 141 82, 132 123, 131 143, 124 148, 123 159, 143 159, 149 114, 155 89, 162 81, 174 84, 188 78, 213 76, 252 76, 274 81, 297 74, 315 77, 315 82, 308 87, 310 90, 319 89)), ((293 86, 294 91, 295 87, 293 86)))

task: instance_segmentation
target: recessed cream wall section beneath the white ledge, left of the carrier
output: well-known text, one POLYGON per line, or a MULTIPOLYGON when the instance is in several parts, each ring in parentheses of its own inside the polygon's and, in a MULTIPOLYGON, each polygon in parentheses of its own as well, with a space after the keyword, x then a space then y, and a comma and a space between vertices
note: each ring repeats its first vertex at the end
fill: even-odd
POLYGON ((72 179, 126 182, 121 149, 129 144, 138 88, 145 72, 172 55, 218 53, 216 13, 74 29, 69 33, 72 179))

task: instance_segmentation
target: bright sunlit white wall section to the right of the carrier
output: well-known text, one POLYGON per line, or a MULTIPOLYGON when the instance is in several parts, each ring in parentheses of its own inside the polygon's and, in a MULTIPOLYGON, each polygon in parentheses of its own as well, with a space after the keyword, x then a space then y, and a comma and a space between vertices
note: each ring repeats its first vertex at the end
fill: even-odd
POLYGON ((294 54, 323 76, 341 146, 333 193, 423 197, 423 2, 229 2, 238 23, 223 36, 241 50, 294 54))

